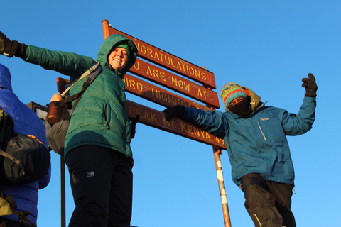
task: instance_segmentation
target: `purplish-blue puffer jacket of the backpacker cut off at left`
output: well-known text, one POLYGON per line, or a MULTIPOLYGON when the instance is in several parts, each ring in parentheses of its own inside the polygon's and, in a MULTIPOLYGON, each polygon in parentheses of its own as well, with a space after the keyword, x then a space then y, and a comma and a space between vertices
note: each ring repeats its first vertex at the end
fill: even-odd
MULTIPOLYGON (((13 118, 14 133, 34 135, 40 142, 48 147, 45 135, 45 126, 41 119, 23 104, 16 94, 13 93, 11 85, 11 73, 9 69, 0 64, 0 106, 13 118)), ((38 190, 48 186, 51 176, 51 166, 48 174, 42 179, 31 184, 11 184, 0 182, 0 188, 5 194, 11 195, 16 201, 19 212, 28 211, 27 218, 31 223, 36 224, 38 216, 38 190)), ((18 216, 11 214, 0 216, 0 226, 20 227, 24 226, 18 222, 18 216)))

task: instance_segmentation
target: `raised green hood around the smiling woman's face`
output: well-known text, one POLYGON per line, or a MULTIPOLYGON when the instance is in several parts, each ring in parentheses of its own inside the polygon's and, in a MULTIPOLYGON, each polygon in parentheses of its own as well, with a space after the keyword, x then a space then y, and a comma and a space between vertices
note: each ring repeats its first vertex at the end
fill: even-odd
POLYGON ((112 51, 112 48, 123 43, 129 45, 129 47, 131 48, 131 52, 129 55, 128 64, 126 65, 126 67, 124 67, 124 69, 119 71, 121 72, 121 77, 123 77, 124 74, 128 72, 128 70, 135 64, 136 61, 138 50, 136 48, 135 43, 132 40, 120 34, 110 35, 108 38, 104 40, 102 45, 99 47, 96 58, 96 61, 99 62, 102 65, 102 67, 107 67, 107 65, 109 65, 108 56, 109 53, 112 51))

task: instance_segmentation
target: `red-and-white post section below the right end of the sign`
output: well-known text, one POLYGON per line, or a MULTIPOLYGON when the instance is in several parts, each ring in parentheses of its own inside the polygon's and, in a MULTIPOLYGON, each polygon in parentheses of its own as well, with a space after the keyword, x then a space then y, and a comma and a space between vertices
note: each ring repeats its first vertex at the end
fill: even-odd
POLYGON ((225 227, 231 227, 231 220, 229 219, 229 206, 227 205, 227 195, 224 184, 224 176, 222 175, 222 162, 220 160, 220 153, 222 150, 213 147, 213 154, 215 156, 215 169, 217 170, 217 179, 219 184, 220 199, 222 201, 222 214, 224 215, 225 227))

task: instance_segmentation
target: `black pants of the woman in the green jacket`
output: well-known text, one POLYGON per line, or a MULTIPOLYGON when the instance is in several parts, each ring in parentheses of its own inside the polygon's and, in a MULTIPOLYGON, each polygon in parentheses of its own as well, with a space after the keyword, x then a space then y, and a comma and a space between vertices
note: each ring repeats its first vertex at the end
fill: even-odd
POLYGON ((76 205, 69 227, 130 227, 131 157, 87 145, 71 150, 66 162, 76 205))

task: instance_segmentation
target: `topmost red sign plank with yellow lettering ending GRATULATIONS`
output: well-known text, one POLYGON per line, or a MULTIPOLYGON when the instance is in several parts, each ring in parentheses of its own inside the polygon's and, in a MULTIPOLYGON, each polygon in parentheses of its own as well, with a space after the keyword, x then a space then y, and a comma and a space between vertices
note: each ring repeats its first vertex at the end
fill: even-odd
POLYGON ((109 23, 106 20, 103 21, 103 33, 104 39, 112 34, 125 35, 127 38, 130 38, 134 41, 137 49, 139 50, 139 57, 149 60, 157 65, 161 65, 162 67, 165 67, 173 72, 177 72, 178 74, 182 74, 183 76, 193 79, 196 82, 205 84, 212 89, 216 88, 215 74, 212 72, 187 62, 180 57, 171 55, 170 53, 134 38, 131 35, 112 28, 112 26, 109 26, 109 23))

